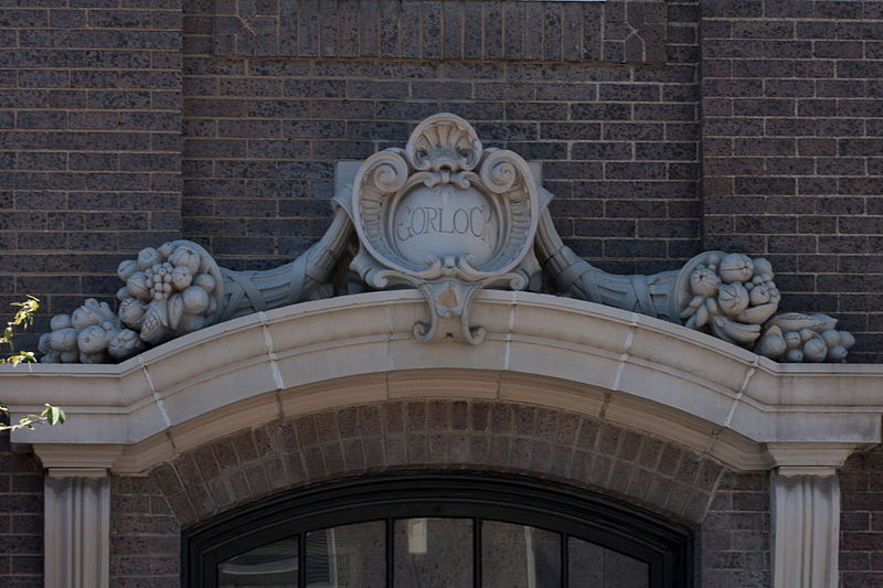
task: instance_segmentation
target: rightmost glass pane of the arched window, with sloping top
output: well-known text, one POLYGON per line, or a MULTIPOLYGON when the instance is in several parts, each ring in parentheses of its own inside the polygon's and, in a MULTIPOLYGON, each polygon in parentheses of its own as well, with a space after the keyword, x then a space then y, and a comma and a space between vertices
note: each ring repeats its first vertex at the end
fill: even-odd
POLYGON ((567 588, 649 588, 650 566, 619 552, 571 537, 567 588))

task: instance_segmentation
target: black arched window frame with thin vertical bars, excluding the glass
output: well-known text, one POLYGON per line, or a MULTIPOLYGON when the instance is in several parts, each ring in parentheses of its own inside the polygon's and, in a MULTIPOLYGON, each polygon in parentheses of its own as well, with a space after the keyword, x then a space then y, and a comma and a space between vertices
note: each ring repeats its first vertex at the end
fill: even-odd
MULTIPOLYGON (((234 555, 309 531, 386 520, 387 578, 392 521, 472 518, 562 533, 647 562, 651 588, 692 588, 694 544, 687 525, 610 496, 523 475, 475 471, 400 471, 285 491, 219 514, 182 532, 181 586, 216 588, 217 566, 234 555)), ((304 549, 304 541, 299 549, 304 549)), ((304 562, 305 559, 300 559, 304 562)), ((480 578, 480 558, 475 562, 480 578)), ((479 584, 476 584, 479 586, 479 584)), ((566 586, 566 584, 565 584, 566 586)))

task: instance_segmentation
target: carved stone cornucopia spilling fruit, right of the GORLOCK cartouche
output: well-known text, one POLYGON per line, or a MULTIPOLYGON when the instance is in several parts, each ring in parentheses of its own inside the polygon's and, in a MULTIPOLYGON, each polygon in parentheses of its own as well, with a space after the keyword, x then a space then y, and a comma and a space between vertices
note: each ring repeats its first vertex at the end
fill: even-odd
POLYGON ((842 362, 855 343, 827 314, 776 313, 779 293, 763 257, 704 252, 681 269, 607 274, 564 245, 544 213, 536 250, 558 289, 574 298, 683 324, 780 362, 842 362))

